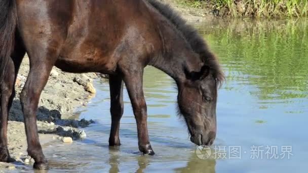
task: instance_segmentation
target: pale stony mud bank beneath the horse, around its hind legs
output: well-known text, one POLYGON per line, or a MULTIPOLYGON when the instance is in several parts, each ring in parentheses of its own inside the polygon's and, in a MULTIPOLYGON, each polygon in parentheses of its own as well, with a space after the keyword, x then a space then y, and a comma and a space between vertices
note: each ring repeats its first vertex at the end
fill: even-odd
MULTIPOLYGON (((15 169, 20 164, 33 164, 27 156, 24 119, 21 111, 19 95, 29 72, 29 60, 25 56, 16 81, 16 97, 9 115, 8 142, 14 163, 0 162, 0 172, 15 169)), ((54 67, 47 85, 43 90, 37 111, 37 127, 41 144, 52 140, 62 141, 63 137, 72 139, 85 138, 82 127, 88 126, 92 120, 73 119, 75 108, 86 106, 94 96, 93 79, 95 73, 65 73, 54 67)))

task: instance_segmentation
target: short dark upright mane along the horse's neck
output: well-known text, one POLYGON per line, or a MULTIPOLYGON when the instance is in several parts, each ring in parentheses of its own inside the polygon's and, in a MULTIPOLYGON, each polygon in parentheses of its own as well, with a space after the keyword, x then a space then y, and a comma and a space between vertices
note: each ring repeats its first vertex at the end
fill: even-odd
POLYGON ((198 31, 175 12, 170 5, 163 4, 158 0, 146 0, 152 7, 165 16, 175 28, 182 33, 191 49, 200 55, 205 65, 208 65, 219 85, 224 81, 224 74, 220 69, 217 57, 209 51, 208 45, 198 31))

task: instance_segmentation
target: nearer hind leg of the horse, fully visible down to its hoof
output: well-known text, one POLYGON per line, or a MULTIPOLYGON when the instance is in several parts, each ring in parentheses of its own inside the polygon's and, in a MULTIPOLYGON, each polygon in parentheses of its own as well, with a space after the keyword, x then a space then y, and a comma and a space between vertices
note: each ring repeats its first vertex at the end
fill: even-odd
POLYGON ((41 93, 48 81, 55 58, 47 53, 44 57, 30 56, 30 71, 24 88, 20 94, 22 111, 27 136, 27 152, 35 162, 35 169, 48 169, 48 161, 42 151, 36 126, 36 111, 41 93), (46 58, 50 57, 50 58, 46 58))

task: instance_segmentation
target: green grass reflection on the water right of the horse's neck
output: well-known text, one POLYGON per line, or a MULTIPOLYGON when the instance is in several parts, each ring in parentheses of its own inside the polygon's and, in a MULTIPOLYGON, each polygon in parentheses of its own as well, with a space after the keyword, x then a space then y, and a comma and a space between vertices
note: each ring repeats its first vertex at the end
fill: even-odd
POLYGON ((307 98, 307 19, 216 20, 200 30, 219 55, 228 81, 256 85, 259 91, 251 94, 260 100, 307 98))

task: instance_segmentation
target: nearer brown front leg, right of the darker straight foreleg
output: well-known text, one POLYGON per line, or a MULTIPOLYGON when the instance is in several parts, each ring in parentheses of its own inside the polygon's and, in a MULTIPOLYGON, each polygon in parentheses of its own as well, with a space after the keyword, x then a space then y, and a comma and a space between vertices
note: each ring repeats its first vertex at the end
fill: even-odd
POLYGON ((137 122, 139 150, 143 154, 154 155, 147 132, 147 108, 142 89, 143 68, 129 67, 122 72, 137 122))

